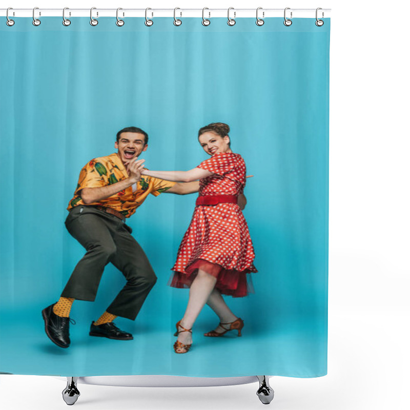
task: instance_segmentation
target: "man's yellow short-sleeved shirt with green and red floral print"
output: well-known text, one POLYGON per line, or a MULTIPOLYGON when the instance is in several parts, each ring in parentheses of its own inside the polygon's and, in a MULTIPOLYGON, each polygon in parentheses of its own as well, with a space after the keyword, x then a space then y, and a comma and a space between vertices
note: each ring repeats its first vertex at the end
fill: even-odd
MULTIPOLYGON (((80 191, 83 188, 106 187, 126 178, 128 178, 127 170, 117 153, 92 159, 81 169, 74 198, 69 202, 67 209, 85 205, 80 196, 80 191)), ((158 196, 174 185, 175 182, 143 175, 136 185, 88 205, 112 208, 128 218, 149 194, 158 196)))

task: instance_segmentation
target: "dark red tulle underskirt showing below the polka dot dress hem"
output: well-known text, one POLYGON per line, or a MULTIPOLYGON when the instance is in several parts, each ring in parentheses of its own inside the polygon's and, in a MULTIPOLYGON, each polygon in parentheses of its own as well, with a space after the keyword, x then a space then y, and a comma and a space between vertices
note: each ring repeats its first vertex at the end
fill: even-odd
POLYGON ((190 288, 192 281, 198 273, 198 269, 217 278, 215 288, 222 295, 241 298, 249 293, 254 293, 251 276, 247 277, 252 272, 251 270, 242 272, 228 270, 221 267, 221 265, 204 259, 196 259, 186 268, 186 273, 174 272, 168 284, 173 286, 173 288, 190 288))

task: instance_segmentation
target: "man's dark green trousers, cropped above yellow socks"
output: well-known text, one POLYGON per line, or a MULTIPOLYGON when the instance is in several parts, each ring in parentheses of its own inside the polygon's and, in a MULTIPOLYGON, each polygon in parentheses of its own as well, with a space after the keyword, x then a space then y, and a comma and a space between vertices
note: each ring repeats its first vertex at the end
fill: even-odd
POLYGON ((134 320, 157 277, 146 254, 131 236, 131 228, 114 215, 82 205, 70 211, 65 223, 68 232, 87 252, 77 263, 61 296, 93 301, 104 268, 111 262, 127 283, 106 311, 134 320))

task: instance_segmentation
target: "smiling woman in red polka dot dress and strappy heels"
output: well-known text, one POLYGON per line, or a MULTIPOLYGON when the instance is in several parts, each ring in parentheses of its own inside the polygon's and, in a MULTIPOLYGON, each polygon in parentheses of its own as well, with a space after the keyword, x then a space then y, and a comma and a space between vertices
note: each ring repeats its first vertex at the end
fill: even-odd
POLYGON ((192 326, 205 303, 219 316, 220 323, 204 336, 218 337, 231 330, 241 336, 243 321, 231 312, 221 294, 246 296, 247 273, 257 272, 241 211, 246 203, 245 163, 232 152, 228 133, 229 126, 221 122, 201 128, 198 139, 211 158, 190 171, 151 171, 142 169, 144 159, 136 161, 141 175, 179 182, 199 179, 196 208, 180 244, 170 282, 176 288, 190 288, 187 310, 176 324, 175 353, 189 351, 192 326))

